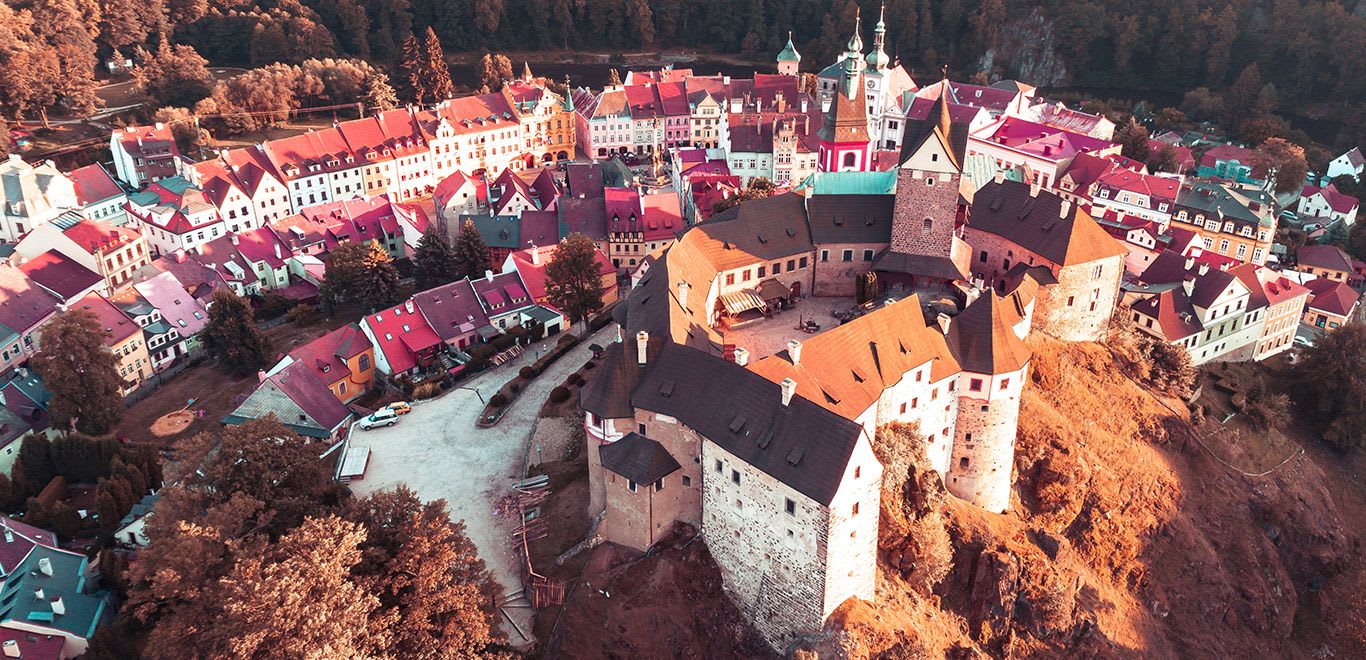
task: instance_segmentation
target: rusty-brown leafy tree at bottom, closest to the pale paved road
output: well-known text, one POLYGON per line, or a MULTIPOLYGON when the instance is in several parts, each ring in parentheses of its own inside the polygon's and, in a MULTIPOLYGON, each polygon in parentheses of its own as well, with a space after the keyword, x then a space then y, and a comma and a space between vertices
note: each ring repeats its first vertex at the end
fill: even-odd
POLYGON ((380 599, 384 656, 474 657, 499 640, 497 585, 444 500, 400 485, 354 500, 347 518, 367 530, 354 573, 380 599))

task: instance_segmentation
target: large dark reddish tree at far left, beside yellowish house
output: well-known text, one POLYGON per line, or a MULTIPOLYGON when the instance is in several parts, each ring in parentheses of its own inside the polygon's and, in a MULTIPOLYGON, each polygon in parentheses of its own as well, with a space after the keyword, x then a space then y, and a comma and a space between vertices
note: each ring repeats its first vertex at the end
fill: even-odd
POLYGON ((42 331, 33 368, 52 392, 48 414, 56 429, 102 436, 123 417, 123 379, 105 331, 85 309, 60 314, 42 331))

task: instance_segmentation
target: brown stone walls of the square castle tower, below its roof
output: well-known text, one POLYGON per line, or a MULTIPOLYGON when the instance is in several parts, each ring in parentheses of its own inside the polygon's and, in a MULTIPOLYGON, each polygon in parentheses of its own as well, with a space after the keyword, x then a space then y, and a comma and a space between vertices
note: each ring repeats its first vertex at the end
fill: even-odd
POLYGON ((892 208, 892 251, 948 257, 953 249, 958 175, 900 169, 892 208), (934 180, 928 186, 929 179, 934 180), (933 221, 925 231, 925 219, 933 221))

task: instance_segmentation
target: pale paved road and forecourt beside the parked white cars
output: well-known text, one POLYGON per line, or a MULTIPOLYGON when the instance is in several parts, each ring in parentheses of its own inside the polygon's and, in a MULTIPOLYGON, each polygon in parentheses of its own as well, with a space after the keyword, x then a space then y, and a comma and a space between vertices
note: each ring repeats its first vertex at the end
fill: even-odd
MULTIPOLYGON (((492 429, 475 428, 474 422, 484 404, 471 389, 462 388, 438 399, 417 403, 413 413, 392 428, 357 430, 351 444, 370 448, 370 465, 362 481, 351 482, 351 489, 358 495, 369 495, 406 484, 423 500, 444 499, 451 518, 464 521, 466 533, 503 585, 503 592, 516 592, 522 586, 516 568, 519 558, 511 541, 512 521, 496 518, 493 503, 520 476, 526 441, 550 389, 583 366, 590 354, 587 346, 602 343, 609 332, 598 331, 546 369, 512 404, 501 424, 492 429)), ((534 359, 533 354, 525 354, 467 381, 464 387, 477 389, 488 399, 518 369, 534 359)), ((530 634, 530 609, 510 611, 530 634)), ((520 641, 515 630, 505 627, 505 631, 511 642, 520 641)))

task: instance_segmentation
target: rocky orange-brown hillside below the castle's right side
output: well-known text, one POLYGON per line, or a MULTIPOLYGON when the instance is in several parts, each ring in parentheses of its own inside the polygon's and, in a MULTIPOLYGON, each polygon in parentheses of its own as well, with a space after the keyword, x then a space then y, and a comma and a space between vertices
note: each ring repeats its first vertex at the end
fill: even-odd
MULTIPOLYGON (((1366 656, 1361 455, 1236 418, 1206 422, 1202 445, 1106 348, 1031 343, 1011 510, 985 512, 930 480, 917 506, 944 519, 947 577, 917 593, 915 541, 884 525, 877 603, 846 603, 810 650, 1366 656)), ((884 522, 897 515, 884 503, 884 522)))

